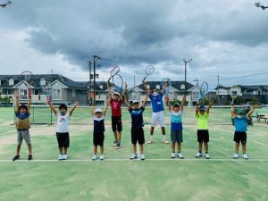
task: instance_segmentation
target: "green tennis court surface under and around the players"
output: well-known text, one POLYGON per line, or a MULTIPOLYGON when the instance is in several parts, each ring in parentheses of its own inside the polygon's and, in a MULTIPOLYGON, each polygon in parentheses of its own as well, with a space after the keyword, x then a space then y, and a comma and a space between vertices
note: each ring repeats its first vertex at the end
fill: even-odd
MULTIPOLYGON (((103 162, 91 161, 93 128, 88 108, 78 108, 71 116, 69 160, 57 161, 55 124, 32 124, 34 159, 27 161, 28 151, 23 143, 21 160, 12 162, 16 147, 13 108, 0 108, 0 200, 268 200, 268 124, 264 121, 254 119, 254 126, 248 127, 249 160, 244 161, 241 157, 234 160, 230 109, 212 108, 209 121, 211 159, 197 159, 194 157, 197 153, 195 109, 185 108, 184 159, 171 158, 171 145, 162 143, 158 127, 154 143, 144 146, 146 160, 130 161, 130 113, 126 108, 122 111, 122 145, 115 150, 108 109, 103 162)), ((147 108, 144 113, 146 141, 151 112, 151 108, 147 108)), ((256 112, 268 116, 268 109, 256 112)), ((49 115, 48 108, 37 109, 35 121, 50 121, 49 115)), ((169 121, 165 110, 168 139, 169 121)), ((239 152, 241 155, 241 148, 239 152)))

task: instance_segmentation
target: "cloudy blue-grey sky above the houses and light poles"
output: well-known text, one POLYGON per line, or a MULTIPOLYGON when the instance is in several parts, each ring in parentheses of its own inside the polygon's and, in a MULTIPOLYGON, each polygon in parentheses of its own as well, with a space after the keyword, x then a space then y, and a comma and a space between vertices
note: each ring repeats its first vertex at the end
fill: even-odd
MULTIPOLYGON (((0 0, 0 4, 6 2, 0 0)), ((130 87, 184 80, 268 85, 268 9, 252 0, 13 0, 0 8, 1 74, 59 73, 87 81, 93 55, 98 80, 113 66, 130 87)), ((263 4, 268 5, 267 0, 263 4)))

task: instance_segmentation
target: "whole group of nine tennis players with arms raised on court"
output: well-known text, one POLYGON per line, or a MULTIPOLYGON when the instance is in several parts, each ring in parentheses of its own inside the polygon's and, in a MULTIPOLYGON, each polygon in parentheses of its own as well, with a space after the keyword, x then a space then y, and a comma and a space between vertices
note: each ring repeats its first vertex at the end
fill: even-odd
MULTIPOLYGON (((121 147, 121 103, 124 100, 125 105, 127 106, 128 111, 130 112, 131 117, 131 144, 133 148, 133 153, 130 155, 130 160, 138 158, 137 155, 137 143, 139 145, 139 153, 140 159, 145 160, 143 145, 145 144, 145 136, 144 136, 144 121, 143 121, 143 112, 145 110, 145 106, 147 103, 147 97, 150 98, 152 102, 152 123, 150 128, 150 137, 148 140, 148 144, 153 143, 153 133, 157 123, 160 124, 162 128, 163 134, 163 143, 169 144, 166 139, 165 129, 164 129, 164 118, 163 118, 163 90, 166 86, 163 86, 161 92, 158 92, 157 89, 153 89, 152 92, 147 88, 146 82, 144 82, 144 87, 147 89, 147 95, 145 96, 144 101, 140 105, 138 100, 134 100, 132 105, 130 105, 127 96, 125 96, 125 90, 123 90, 122 94, 118 92, 113 93, 113 97, 111 91, 109 89, 109 85, 107 84, 109 100, 107 100, 107 104, 105 105, 104 110, 101 108, 95 108, 94 105, 91 105, 91 115, 93 120, 93 157, 92 160, 97 159, 97 147, 100 147, 100 155, 99 159, 104 160, 104 140, 105 140, 105 113, 109 105, 111 105, 112 110, 112 129, 114 135, 114 148, 119 149, 121 147)), ((127 83, 125 84, 125 88, 127 88, 127 83)), ((31 153, 31 141, 29 135, 29 107, 30 107, 30 92, 29 99, 27 105, 20 105, 19 103, 19 93, 18 91, 14 92, 15 97, 15 115, 16 115, 16 129, 17 129, 17 139, 18 144, 16 148, 16 155, 13 157, 13 161, 20 158, 20 150, 22 139, 28 145, 29 148, 29 157, 28 159, 32 159, 31 153)), ((181 143, 183 142, 182 135, 182 115, 183 115, 183 105, 185 104, 186 96, 183 96, 181 104, 175 103, 171 105, 170 101, 167 100, 168 109, 171 117, 171 141, 172 141, 172 158, 176 156, 179 158, 184 158, 181 153, 181 143), (178 147, 178 152, 175 154, 175 147, 178 147)), ((54 108, 54 105, 51 101, 47 101, 47 104, 50 105, 50 108, 54 112, 54 115, 57 117, 56 123, 56 138, 59 147, 59 156, 58 160, 66 160, 68 158, 67 150, 70 146, 70 137, 69 137, 69 121, 71 117, 71 113, 74 109, 79 105, 78 102, 75 102, 71 108, 70 113, 67 113, 67 105, 60 105, 59 110, 57 111, 54 108), (58 113, 59 112, 59 113, 58 113)), ((198 151, 196 157, 202 157, 202 147, 204 144, 205 147, 205 158, 209 159, 210 155, 208 154, 208 142, 209 142, 209 132, 208 132, 208 119, 209 119, 209 111, 211 106, 214 105, 214 101, 210 101, 207 108, 204 105, 199 105, 197 103, 196 107, 196 120, 197 120, 197 142, 198 142, 198 151)), ((234 106, 231 105, 231 118, 233 119, 235 126, 234 133, 234 141, 235 141, 235 154, 233 158, 239 158, 239 144, 242 145, 242 157, 244 159, 248 159, 247 157, 247 119, 250 117, 250 114, 253 113, 257 105, 254 105, 250 111, 245 113, 243 110, 235 110, 234 106)))

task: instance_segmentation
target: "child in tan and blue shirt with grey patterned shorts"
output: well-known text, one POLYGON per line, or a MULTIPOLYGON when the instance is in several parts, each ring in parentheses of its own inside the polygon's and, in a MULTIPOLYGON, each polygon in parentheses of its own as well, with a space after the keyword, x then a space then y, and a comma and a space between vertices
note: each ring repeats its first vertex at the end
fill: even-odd
POLYGON ((14 98, 15 98, 15 115, 16 115, 16 129, 17 129, 17 140, 18 145, 16 148, 16 155, 13 157, 13 161, 16 161, 20 158, 20 150, 21 150, 21 143, 24 139, 25 142, 28 145, 29 155, 28 160, 30 161, 32 159, 31 154, 31 141, 30 141, 30 135, 29 135, 29 107, 30 107, 30 101, 31 101, 31 95, 30 95, 30 89, 28 93, 28 103, 27 105, 20 105, 19 103, 19 92, 17 90, 14 91, 14 98))

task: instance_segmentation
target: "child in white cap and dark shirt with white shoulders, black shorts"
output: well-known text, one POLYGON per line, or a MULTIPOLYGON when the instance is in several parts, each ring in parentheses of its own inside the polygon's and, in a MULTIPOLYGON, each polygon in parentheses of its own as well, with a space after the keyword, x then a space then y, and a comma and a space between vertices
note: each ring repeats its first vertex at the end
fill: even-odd
POLYGON ((101 108, 96 108, 94 111, 94 105, 91 104, 91 115, 93 117, 93 123, 94 123, 94 131, 93 131, 93 157, 92 160, 95 161, 97 159, 96 151, 97 146, 100 147, 100 160, 105 160, 104 155, 104 141, 105 141, 105 114, 107 111, 109 102, 107 102, 105 106, 104 112, 101 108))

